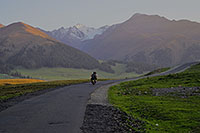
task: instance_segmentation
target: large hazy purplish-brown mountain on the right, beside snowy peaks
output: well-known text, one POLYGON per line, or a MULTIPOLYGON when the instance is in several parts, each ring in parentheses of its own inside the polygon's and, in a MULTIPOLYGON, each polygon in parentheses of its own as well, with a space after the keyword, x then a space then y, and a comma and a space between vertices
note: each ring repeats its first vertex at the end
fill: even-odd
POLYGON ((200 60, 200 23, 135 14, 103 34, 84 41, 82 50, 97 59, 164 67, 200 60))

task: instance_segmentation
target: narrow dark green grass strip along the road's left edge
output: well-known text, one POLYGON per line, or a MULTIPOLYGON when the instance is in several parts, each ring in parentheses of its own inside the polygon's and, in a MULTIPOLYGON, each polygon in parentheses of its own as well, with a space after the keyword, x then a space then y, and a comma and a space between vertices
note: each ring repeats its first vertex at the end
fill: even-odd
POLYGON ((49 81, 41 83, 29 83, 29 84, 16 84, 16 85, 1 85, 0 86, 0 101, 21 96, 27 93, 36 92, 48 88, 56 88, 71 84, 85 83, 89 80, 60 80, 49 81))

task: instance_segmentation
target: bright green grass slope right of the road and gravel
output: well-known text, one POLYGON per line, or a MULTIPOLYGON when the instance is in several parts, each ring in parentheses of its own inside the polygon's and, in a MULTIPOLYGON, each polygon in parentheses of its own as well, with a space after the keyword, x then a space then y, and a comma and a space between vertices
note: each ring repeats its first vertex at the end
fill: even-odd
POLYGON ((152 95, 153 88, 177 86, 200 86, 200 64, 183 73, 113 86, 109 90, 109 101, 132 117, 145 121, 146 130, 142 131, 200 132, 200 96, 152 95))

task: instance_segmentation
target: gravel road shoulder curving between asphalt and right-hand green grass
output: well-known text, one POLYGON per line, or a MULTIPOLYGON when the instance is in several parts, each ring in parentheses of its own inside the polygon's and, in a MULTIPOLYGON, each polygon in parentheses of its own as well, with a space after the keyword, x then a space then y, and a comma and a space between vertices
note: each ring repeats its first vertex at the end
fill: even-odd
POLYGON ((83 125, 83 133, 93 132, 134 132, 131 127, 142 125, 142 122, 113 107, 108 102, 108 90, 120 82, 97 88, 88 101, 83 125), (129 125, 129 126, 128 126, 129 125))

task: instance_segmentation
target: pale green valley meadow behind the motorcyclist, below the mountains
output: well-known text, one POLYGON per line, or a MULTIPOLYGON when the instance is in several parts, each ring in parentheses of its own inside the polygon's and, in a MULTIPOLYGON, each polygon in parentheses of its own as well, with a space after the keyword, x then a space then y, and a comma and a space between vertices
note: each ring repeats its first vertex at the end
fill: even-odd
POLYGON ((99 78, 103 79, 119 79, 136 77, 136 73, 126 73, 125 65, 117 64, 113 66, 114 74, 100 70, 86 70, 73 68, 40 68, 40 69, 17 69, 22 75, 31 76, 33 78, 45 80, 74 80, 74 79, 89 79, 93 71, 96 71, 99 78))

